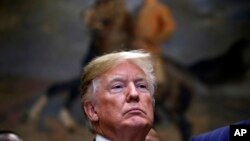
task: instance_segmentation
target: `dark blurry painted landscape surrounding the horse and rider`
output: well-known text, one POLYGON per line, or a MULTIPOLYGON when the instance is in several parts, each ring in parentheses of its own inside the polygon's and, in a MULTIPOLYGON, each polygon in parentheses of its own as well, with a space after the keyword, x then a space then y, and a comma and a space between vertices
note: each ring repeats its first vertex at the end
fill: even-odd
MULTIPOLYGON (((127 2, 133 12, 141 0, 127 2)), ((177 31, 162 46, 164 55, 184 67, 222 56, 239 38, 250 41, 248 0, 163 2, 169 5, 177 23, 177 31)), ((91 0, 1 0, 0 129, 17 131, 25 140, 83 140, 92 137, 84 125, 80 125, 82 127, 75 135, 61 128, 56 115, 60 98, 47 106, 43 117, 50 118, 43 118, 39 128, 19 120, 23 111, 50 84, 79 75, 90 39, 81 13, 92 3, 91 0)), ((249 47, 247 43, 242 52, 246 65, 250 64, 249 47)), ((230 60, 234 58, 228 62, 230 60)), ((217 68, 223 68, 223 65, 217 68)), ((237 77, 241 79, 237 81, 199 82, 198 93, 188 112, 194 135, 250 117, 249 69, 239 74, 242 75, 237 77)), ((79 101, 75 107, 73 112, 81 124, 83 115, 79 101)), ((179 140, 178 131, 171 123, 166 122, 158 128, 162 137, 179 140)))

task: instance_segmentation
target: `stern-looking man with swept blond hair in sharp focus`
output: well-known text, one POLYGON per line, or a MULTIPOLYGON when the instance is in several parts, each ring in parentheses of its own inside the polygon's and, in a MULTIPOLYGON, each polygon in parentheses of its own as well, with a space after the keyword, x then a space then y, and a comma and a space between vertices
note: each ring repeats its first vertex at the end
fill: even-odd
POLYGON ((153 125, 155 76, 149 53, 122 51, 91 61, 81 105, 95 140, 145 141, 153 125))

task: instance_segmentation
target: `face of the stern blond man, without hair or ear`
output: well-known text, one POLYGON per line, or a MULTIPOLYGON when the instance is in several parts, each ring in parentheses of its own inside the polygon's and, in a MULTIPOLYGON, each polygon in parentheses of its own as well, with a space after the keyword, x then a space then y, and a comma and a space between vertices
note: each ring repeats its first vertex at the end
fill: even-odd
POLYGON ((94 104, 100 128, 151 127, 153 99, 145 73, 123 62, 99 79, 94 104))

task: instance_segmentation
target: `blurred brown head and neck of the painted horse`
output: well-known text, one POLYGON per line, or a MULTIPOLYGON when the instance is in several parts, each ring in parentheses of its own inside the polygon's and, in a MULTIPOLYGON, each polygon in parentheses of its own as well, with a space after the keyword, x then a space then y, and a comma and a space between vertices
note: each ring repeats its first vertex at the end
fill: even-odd
POLYGON ((132 22, 123 0, 97 0, 85 11, 84 22, 92 36, 89 49, 96 54, 129 46, 132 22))

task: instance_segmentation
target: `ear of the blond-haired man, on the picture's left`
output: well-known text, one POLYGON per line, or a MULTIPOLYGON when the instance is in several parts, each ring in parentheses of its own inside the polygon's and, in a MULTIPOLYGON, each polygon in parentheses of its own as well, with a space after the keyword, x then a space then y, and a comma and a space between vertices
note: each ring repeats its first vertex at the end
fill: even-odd
POLYGON ((95 110, 95 106, 93 105, 92 102, 86 102, 84 103, 84 111, 86 113, 86 115, 88 116, 88 118, 90 119, 90 121, 94 121, 97 122, 99 120, 97 112, 95 110))

